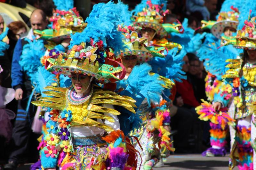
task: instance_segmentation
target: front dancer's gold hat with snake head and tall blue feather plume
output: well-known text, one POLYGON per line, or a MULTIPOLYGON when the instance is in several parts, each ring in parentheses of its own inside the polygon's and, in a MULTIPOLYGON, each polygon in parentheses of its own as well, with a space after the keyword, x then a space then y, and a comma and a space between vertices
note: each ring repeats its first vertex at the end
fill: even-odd
POLYGON ((124 50, 123 35, 117 30, 119 12, 112 1, 94 5, 86 19, 88 26, 82 33, 71 36, 68 53, 47 59, 46 69, 66 76, 71 76, 73 72, 89 75, 101 83, 124 78, 124 66, 113 60, 114 53, 109 52, 109 48, 116 54, 124 50))

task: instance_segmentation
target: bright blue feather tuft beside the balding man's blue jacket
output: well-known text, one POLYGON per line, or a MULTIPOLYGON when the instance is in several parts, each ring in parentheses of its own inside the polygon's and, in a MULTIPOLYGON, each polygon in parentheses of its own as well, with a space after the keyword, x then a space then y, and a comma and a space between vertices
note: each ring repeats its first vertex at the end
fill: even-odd
POLYGON ((39 66, 42 66, 40 58, 44 56, 45 48, 43 40, 31 41, 25 38, 28 44, 25 44, 20 56, 20 66, 22 71, 25 71, 28 75, 31 84, 36 83, 36 72, 39 66))

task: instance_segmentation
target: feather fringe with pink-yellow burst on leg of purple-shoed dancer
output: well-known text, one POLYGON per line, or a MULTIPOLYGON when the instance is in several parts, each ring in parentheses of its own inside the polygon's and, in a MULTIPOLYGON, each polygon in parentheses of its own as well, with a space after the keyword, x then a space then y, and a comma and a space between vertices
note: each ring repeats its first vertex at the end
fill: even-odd
POLYGON ((219 112, 216 112, 212 105, 202 100, 203 103, 196 107, 196 113, 199 115, 199 119, 203 121, 210 120, 210 142, 211 148, 208 148, 202 153, 203 156, 225 156, 227 144, 226 136, 228 131, 228 124, 234 123, 227 111, 228 108, 221 108, 219 112), (216 146, 216 147, 214 147, 216 146))

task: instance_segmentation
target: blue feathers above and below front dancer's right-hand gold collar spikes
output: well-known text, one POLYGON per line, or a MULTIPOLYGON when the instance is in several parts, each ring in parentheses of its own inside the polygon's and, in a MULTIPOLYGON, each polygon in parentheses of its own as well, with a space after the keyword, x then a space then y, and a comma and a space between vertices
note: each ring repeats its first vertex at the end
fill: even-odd
MULTIPOLYGON (((118 82, 117 87, 124 88, 121 95, 130 96, 135 99, 136 105, 139 107, 142 101, 147 98, 148 104, 150 102, 159 102, 161 93, 164 90, 161 84, 163 81, 159 80, 159 75, 153 76, 148 73, 151 71, 151 66, 147 63, 142 63, 135 66, 128 79, 118 82)), ((142 120, 138 113, 134 114, 122 107, 117 107, 120 110, 121 115, 118 115, 121 130, 124 131, 124 135, 129 134, 131 131, 135 131, 141 127, 142 120)))

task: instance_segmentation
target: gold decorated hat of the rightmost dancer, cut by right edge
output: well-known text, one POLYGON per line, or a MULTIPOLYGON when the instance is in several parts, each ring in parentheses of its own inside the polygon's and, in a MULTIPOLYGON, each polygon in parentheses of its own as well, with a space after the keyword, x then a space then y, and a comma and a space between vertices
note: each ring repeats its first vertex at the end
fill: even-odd
POLYGON ((251 18, 250 14, 248 20, 244 21, 242 30, 237 31, 234 45, 236 48, 256 49, 256 17, 251 18))

